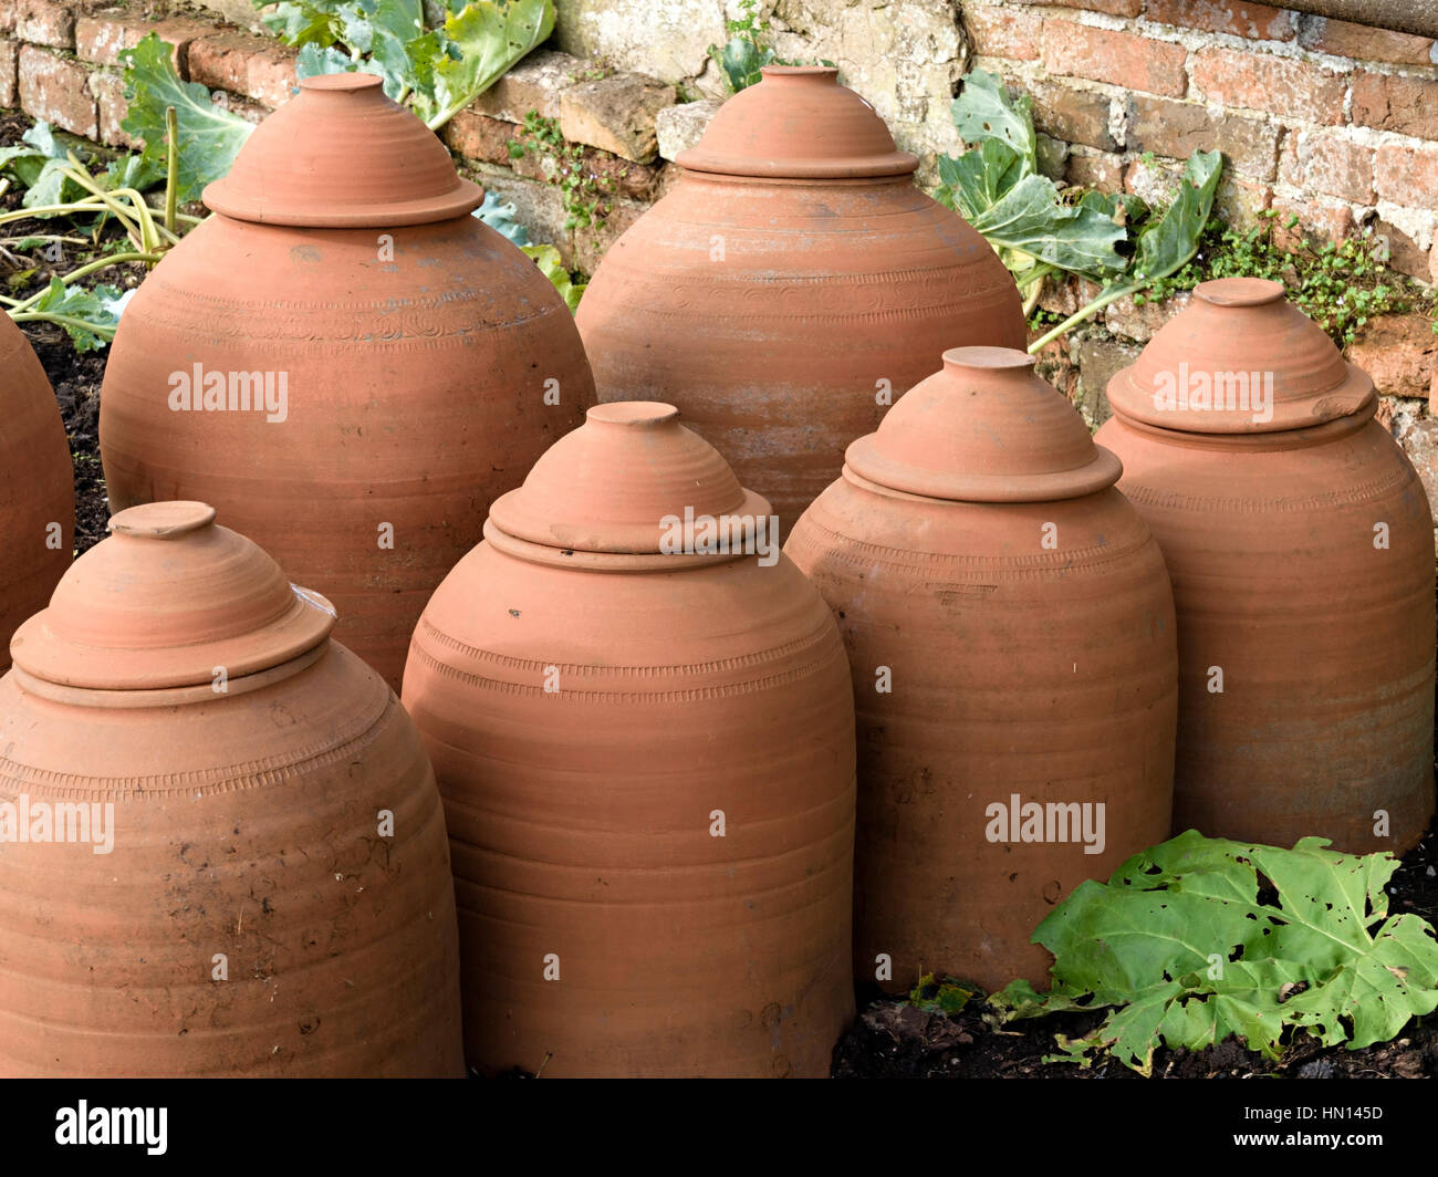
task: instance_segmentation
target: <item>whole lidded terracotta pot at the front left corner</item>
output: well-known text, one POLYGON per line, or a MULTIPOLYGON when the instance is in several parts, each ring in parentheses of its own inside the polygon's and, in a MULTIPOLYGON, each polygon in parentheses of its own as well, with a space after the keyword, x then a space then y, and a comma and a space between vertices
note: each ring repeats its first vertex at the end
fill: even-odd
POLYGON ((418 732, 329 604, 213 518, 121 512, 14 637, 0 1073, 463 1075, 418 732))

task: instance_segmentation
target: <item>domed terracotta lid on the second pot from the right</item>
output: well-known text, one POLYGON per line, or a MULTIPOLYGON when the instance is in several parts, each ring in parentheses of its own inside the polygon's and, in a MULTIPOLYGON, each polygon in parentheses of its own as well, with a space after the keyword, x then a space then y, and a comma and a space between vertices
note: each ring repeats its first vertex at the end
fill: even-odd
POLYGON ((1123 466, 1074 407, 1007 347, 956 347, 844 455, 850 473, 955 502, 1051 502, 1091 495, 1123 466))

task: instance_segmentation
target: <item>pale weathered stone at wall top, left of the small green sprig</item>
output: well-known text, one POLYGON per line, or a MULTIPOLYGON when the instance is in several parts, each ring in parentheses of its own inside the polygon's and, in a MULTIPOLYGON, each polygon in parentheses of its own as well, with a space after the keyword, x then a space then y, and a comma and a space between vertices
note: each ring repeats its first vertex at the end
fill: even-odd
POLYGON ((555 0, 555 13, 559 49, 666 82, 696 78, 728 40, 719 0, 555 0))

